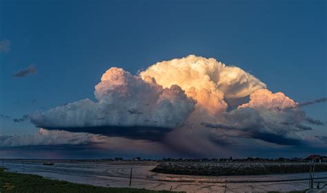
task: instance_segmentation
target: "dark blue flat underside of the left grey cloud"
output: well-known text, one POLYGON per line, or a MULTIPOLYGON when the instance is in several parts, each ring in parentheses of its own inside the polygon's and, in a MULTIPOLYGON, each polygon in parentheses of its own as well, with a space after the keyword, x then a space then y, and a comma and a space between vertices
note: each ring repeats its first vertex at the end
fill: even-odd
POLYGON ((105 136, 121 136, 127 139, 144 139, 148 141, 163 141, 166 133, 172 131, 171 128, 160 127, 121 127, 121 126, 97 126, 83 128, 48 128, 39 127, 46 130, 65 130, 68 132, 87 132, 91 134, 102 134, 105 136))

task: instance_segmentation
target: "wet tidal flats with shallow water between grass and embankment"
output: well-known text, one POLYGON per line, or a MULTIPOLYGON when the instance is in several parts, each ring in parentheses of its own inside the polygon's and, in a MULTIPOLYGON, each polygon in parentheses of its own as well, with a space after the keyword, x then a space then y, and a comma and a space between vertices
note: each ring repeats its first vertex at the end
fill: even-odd
MULTIPOLYGON (((54 165, 52 166, 43 165, 43 162, 48 161, 6 160, 3 166, 11 172, 38 174, 49 179, 59 179, 105 187, 129 187, 130 170, 132 168, 131 187, 150 190, 170 190, 171 188, 171 190, 186 192, 224 192, 225 185, 226 192, 291 191, 308 188, 308 180, 270 183, 246 182, 307 179, 308 173, 257 176, 187 176, 150 172, 150 170, 158 165, 158 163, 152 161, 108 161, 101 163, 53 161, 54 165), (231 181, 237 181, 238 183, 233 183, 231 181)), ((1 161, 0 165, 2 165, 1 161)), ((315 177, 327 178, 327 172, 316 172, 315 177)), ((325 181, 327 181, 327 179, 325 179, 325 181)))

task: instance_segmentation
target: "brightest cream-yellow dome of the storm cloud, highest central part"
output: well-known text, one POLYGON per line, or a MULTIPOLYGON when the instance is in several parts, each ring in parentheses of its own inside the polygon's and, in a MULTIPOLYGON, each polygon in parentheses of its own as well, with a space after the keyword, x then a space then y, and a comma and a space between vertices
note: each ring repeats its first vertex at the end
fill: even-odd
POLYGON ((266 85, 248 72, 228 66, 216 59, 190 55, 162 61, 140 72, 153 77, 159 85, 179 85, 189 97, 197 100, 195 114, 201 119, 219 116, 228 108, 228 101, 242 99, 266 85))

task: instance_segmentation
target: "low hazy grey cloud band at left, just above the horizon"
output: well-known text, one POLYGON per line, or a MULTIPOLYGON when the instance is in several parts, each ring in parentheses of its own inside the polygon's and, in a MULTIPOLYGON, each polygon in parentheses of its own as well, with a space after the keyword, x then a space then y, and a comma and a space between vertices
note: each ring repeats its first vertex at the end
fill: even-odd
MULTIPOLYGON (((165 145, 148 141, 108 137, 86 132, 67 132, 65 130, 40 129, 34 134, 0 135, 0 150, 104 150, 117 153, 160 154, 170 152, 165 145)), ((26 153, 26 151, 25 151, 26 153)), ((44 153, 44 152, 43 152, 44 153)), ((44 154, 43 154, 44 155, 44 154)))

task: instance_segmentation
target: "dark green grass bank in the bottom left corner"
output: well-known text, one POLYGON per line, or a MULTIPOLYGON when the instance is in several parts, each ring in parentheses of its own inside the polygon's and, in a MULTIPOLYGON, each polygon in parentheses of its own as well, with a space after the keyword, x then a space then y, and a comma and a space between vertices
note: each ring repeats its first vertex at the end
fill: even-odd
POLYGON ((122 193, 157 193, 170 191, 154 191, 146 189, 126 188, 126 187, 99 187, 94 185, 84 185, 70 183, 68 181, 58 181, 45 179, 42 176, 33 174, 19 174, 6 172, 0 168, 0 193, 52 193, 52 192, 122 192, 122 193))

